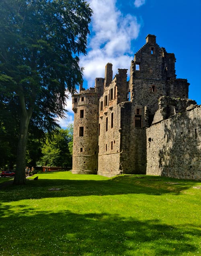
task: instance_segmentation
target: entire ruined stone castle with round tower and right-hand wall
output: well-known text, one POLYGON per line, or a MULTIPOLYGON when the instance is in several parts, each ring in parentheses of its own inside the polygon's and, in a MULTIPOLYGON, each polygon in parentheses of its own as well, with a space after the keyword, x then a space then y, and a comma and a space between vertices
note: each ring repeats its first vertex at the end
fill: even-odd
POLYGON ((155 35, 113 78, 112 64, 94 88, 73 97, 72 173, 121 173, 201 179, 201 105, 155 35))

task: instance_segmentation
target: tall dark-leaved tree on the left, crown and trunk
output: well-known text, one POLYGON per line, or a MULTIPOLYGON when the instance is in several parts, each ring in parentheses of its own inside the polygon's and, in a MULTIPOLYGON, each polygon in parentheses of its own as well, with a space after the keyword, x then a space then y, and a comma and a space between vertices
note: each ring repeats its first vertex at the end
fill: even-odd
POLYGON ((66 89, 82 81, 92 10, 83 0, 1 0, 0 8, 0 100, 19 120, 14 184, 24 184, 29 124, 50 131, 64 117, 66 89))

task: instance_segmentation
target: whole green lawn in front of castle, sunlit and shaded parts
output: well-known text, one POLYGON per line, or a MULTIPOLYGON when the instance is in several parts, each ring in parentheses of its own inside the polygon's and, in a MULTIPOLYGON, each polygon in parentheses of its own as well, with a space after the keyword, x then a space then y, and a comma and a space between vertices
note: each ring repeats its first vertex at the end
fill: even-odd
POLYGON ((0 189, 0 256, 201 255, 201 182, 38 176, 0 189))

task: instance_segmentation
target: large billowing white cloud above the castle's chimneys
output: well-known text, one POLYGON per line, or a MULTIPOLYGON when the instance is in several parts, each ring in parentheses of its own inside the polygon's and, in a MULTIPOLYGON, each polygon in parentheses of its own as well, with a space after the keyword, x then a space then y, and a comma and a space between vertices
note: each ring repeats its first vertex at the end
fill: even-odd
POLYGON ((104 77, 105 65, 113 64, 113 73, 118 68, 130 68, 133 52, 131 41, 139 34, 140 24, 135 16, 121 13, 116 0, 89 0, 93 10, 92 36, 89 37, 88 54, 80 58, 84 67, 84 81, 94 86, 96 77, 104 77))

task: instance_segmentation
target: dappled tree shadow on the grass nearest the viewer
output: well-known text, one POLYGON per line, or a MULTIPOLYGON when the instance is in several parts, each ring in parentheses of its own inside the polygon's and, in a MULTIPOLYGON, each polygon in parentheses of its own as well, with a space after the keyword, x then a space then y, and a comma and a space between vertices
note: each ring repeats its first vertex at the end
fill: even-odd
POLYGON ((107 213, 31 213, 28 217, 10 211, 3 218, 2 255, 176 256, 199 250, 193 239, 200 230, 191 225, 175 227, 158 219, 142 221, 107 213))

